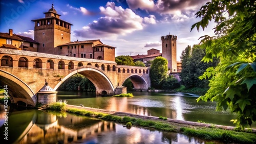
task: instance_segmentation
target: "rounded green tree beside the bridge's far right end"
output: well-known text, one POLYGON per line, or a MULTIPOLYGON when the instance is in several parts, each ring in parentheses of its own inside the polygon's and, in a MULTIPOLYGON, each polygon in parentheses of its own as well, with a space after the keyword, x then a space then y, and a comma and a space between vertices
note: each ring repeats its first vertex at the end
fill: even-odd
POLYGON ((162 88, 162 84, 167 77, 168 62, 163 57, 156 57, 151 65, 150 69, 150 79, 151 85, 154 88, 162 88))

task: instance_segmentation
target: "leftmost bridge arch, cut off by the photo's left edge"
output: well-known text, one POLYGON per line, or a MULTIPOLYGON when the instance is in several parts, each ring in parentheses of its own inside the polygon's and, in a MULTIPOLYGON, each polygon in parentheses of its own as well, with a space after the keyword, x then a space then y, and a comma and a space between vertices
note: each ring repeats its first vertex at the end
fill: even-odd
POLYGON ((27 105, 35 107, 37 103, 36 95, 25 82, 1 69, 0 81, 3 87, 5 85, 7 86, 12 103, 18 104, 24 102, 27 105))

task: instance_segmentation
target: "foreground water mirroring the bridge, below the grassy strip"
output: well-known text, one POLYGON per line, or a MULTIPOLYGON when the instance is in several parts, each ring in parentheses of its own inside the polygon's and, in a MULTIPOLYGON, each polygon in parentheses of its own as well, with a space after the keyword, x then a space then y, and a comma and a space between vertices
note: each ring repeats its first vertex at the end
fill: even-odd
MULTIPOLYGON (((97 118, 53 111, 12 112, 5 143, 204 143, 205 140, 179 133, 132 127, 97 118), (30 117, 26 117, 30 113, 30 117), (20 116, 23 115, 21 119, 20 116), (22 121, 22 123, 20 123, 22 121)), ((1 127, 2 129, 2 127, 1 127)), ((2 131, 1 131, 2 132, 2 131)), ((2 140, 1 140, 2 141, 2 140)), ((214 142, 214 141, 211 141, 214 142)))

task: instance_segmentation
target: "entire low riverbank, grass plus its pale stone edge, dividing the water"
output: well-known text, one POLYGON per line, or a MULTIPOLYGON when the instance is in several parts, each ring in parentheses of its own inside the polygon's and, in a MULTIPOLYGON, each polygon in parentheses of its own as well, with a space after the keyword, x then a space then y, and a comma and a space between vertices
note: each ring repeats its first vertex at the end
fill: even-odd
MULTIPOLYGON (((44 108, 55 107, 61 110, 63 102, 45 106, 44 108)), ((53 109, 54 110, 54 109, 53 109)), ((256 129, 246 129, 245 131, 235 131, 235 127, 220 126, 214 124, 204 124, 197 122, 180 121, 177 119, 155 116, 138 115, 125 112, 97 109, 91 107, 65 105, 65 111, 78 115, 100 118, 105 121, 112 121, 125 125, 131 122, 132 125, 148 128, 155 128, 161 131, 178 132, 189 136, 195 136, 206 140, 219 140, 225 143, 256 143, 256 129)))

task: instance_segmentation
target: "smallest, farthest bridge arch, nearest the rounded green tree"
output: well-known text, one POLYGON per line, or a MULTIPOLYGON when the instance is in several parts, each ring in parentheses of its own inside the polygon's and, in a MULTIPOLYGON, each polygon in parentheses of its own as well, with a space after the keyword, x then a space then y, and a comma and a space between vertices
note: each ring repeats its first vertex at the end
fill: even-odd
POLYGON ((123 85, 123 83, 127 80, 127 79, 130 79, 133 83, 133 86, 134 86, 134 89, 147 89, 148 88, 148 84, 147 82, 145 81, 144 78, 142 78, 140 75, 138 74, 133 74, 129 77, 127 77, 126 79, 124 79, 124 81, 122 82, 121 85, 123 85))

